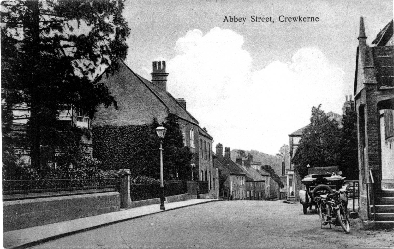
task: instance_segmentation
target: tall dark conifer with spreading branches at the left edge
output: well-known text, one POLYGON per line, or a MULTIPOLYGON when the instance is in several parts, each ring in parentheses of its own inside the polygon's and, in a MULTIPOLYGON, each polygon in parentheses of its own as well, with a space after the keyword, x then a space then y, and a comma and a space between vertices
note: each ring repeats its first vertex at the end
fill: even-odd
MULTIPOLYGON (((77 107, 90 117, 99 104, 116 107, 99 79, 101 70, 113 72, 114 62, 126 57, 123 9, 123 0, 1 2, 1 81, 9 90, 2 126, 12 132, 13 105, 30 108, 26 145, 33 167, 45 163, 43 149, 78 140, 76 127, 58 122, 59 107, 77 107)), ((7 134, 3 130, 3 139, 7 134)), ((4 146, 3 156, 15 144, 4 146)))

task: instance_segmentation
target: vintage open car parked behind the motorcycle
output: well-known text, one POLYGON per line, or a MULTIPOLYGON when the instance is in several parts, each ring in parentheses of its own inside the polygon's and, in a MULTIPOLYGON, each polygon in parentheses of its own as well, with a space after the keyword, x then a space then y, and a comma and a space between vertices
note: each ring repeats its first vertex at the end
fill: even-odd
POLYGON ((346 177, 341 176, 337 166, 308 168, 308 175, 305 176, 301 183, 305 189, 299 191, 299 201, 303 206, 304 214, 307 214, 307 208, 312 209, 316 205, 314 199, 322 194, 331 194, 333 190, 343 188, 346 177))

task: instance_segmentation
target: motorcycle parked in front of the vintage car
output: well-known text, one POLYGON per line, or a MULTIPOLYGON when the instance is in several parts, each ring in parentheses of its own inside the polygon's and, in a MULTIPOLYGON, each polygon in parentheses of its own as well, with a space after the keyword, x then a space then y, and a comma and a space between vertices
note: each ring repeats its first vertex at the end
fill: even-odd
POLYGON ((315 197, 314 200, 319 209, 320 227, 323 225, 341 226, 342 229, 348 234, 350 233, 350 223, 347 214, 348 210, 348 197, 346 188, 341 188, 333 194, 323 194, 315 197))

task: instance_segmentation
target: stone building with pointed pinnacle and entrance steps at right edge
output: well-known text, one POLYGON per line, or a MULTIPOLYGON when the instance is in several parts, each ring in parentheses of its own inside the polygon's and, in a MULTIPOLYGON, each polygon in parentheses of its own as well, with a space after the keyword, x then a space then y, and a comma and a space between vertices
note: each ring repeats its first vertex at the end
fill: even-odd
POLYGON ((361 17, 357 39, 354 99, 358 127, 359 214, 366 228, 394 227, 393 20, 369 46, 361 17))

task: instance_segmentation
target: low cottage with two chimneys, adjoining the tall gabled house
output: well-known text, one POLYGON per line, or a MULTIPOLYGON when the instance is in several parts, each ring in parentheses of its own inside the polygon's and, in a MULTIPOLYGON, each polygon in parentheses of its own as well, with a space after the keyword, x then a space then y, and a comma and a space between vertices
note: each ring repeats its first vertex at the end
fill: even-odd
POLYGON ((224 184, 229 186, 232 199, 244 200, 246 198, 246 173, 230 159, 230 148, 225 148, 225 155, 223 157, 223 145, 218 143, 213 162, 214 167, 218 168, 222 175, 227 176, 224 184))

